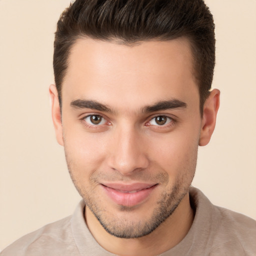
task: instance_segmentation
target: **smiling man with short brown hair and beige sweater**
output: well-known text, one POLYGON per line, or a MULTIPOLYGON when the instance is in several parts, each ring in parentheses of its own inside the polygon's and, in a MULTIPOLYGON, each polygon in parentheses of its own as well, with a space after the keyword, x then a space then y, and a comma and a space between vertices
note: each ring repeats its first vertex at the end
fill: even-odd
POLYGON ((1 255, 254 255, 256 224, 190 187, 215 126, 201 0, 76 0, 55 34, 52 119, 83 200, 1 255))

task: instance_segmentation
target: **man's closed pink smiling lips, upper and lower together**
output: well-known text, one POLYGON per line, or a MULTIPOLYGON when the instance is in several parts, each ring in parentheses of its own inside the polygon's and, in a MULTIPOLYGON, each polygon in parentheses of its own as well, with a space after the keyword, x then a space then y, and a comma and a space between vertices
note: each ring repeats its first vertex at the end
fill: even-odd
POLYGON ((101 183, 105 193, 119 205, 132 207, 145 201, 157 186, 148 183, 101 183))

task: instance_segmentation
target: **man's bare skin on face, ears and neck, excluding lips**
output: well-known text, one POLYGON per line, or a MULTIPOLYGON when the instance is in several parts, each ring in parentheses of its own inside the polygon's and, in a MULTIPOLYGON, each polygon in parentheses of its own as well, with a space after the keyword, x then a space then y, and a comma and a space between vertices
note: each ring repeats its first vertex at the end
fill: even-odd
POLYGON ((210 140, 219 106, 214 89, 201 118, 189 42, 78 39, 62 84, 62 116, 55 86, 49 90, 56 138, 96 241, 118 255, 155 255, 178 244, 193 221, 188 189, 197 147, 210 140), (150 107, 162 101, 167 108, 150 107), (121 205, 102 186, 112 182, 155 186, 142 201, 121 205))

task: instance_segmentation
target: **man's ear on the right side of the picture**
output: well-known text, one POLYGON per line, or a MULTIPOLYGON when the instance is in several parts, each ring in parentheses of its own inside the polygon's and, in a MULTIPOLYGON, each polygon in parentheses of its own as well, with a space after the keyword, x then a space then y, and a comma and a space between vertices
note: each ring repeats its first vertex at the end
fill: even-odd
POLYGON ((204 102, 199 146, 205 146, 210 141, 216 123, 219 95, 220 91, 218 89, 213 89, 204 102))

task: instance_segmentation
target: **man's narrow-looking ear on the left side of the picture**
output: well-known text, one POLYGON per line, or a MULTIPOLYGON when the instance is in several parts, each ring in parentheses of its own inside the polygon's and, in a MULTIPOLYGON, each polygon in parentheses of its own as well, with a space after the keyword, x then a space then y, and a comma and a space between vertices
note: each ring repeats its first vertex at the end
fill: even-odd
POLYGON ((49 87, 50 99, 51 99, 51 117, 55 129, 56 139, 60 145, 63 145, 63 133, 61 123, 61 113, 58 101, 58 92, 56 86, 51 84, 49 87))

